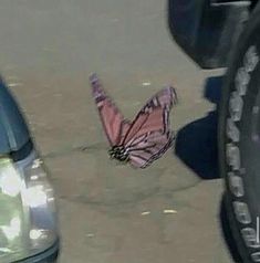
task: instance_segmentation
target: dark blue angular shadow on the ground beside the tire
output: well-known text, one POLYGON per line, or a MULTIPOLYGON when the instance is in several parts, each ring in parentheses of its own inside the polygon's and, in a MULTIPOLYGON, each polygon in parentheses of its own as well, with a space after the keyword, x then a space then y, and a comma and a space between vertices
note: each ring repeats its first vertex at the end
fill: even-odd
POLYGON ((222 76, 206 80, 204 96, 216 104, 216 111, 184 126, 177 133, 175 154, 201 179, 219 178, 218 170, 218 105, 222 76))

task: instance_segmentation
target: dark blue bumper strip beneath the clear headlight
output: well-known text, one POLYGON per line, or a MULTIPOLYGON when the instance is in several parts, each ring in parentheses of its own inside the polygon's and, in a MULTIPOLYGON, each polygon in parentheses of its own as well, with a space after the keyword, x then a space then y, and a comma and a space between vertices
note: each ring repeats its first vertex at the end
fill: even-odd
POLYGON ((15 261, 15 263, 56 263, 59 251, 60 251, 60 242, 56 241, 53 246, 45 250, 44 252, 30 256, 25 260, 15 261))

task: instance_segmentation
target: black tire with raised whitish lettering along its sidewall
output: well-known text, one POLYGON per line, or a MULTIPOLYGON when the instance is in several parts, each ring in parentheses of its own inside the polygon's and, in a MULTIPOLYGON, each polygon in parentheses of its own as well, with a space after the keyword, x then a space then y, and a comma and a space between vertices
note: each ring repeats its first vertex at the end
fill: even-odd
POLYGON ((220 172, 241 263, 260 262, 260 6, 238 41, 219 119, 220 172), (259 173, 259 175, 258 175, 259 173))

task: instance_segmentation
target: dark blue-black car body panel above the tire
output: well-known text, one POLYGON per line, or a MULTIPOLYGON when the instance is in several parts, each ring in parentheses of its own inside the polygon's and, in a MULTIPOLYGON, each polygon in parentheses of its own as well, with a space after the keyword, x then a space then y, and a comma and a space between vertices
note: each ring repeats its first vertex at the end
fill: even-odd
POLYGON ((169 0, 168 24, 175 41, 202 69, 225 67, 252 1, 169 0))

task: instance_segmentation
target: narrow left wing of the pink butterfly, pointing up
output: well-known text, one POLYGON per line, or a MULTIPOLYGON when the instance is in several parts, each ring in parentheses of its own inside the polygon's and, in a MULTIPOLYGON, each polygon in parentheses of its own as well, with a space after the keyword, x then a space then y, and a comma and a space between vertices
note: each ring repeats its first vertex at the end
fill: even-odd
POLYGON ((90 76, 90 82, 93 97, 110 145, 119 145, 129 129, 131 123, 124 118, 112 99, 105 94, 96 74, 90 76))

